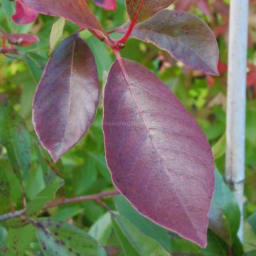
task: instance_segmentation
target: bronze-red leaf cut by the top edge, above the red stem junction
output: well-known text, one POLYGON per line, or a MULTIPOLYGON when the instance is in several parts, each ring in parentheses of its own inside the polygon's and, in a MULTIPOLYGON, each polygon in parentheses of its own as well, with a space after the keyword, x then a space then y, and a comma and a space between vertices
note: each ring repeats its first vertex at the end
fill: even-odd
MULTIPOLYGON (((142 0, 126 0, 127 12, 132 20, 142 0)), ((145 0, 137 21, 144 21, 174 3, 175 0, 145 0)))

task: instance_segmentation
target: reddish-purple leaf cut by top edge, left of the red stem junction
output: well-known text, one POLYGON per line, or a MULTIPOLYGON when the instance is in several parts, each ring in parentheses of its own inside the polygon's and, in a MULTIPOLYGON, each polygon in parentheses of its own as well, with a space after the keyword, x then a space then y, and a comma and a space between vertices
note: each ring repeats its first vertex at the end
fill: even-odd
POLYGON ((80 26, 103 31, 85 0, 22 0, 26 6, 41 14, 62 16, 80 26))

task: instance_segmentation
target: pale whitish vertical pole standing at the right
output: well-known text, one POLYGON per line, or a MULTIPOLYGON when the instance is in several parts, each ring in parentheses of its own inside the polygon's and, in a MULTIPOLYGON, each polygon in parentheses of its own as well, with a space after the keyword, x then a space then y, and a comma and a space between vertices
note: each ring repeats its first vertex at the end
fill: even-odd
MULTIPOLYGON (((249 0, 230 1, 225 179, 233 189, 241 214, 245 179, 248 12, 249 0)), ((241 216, 238 237, 243 242, 243 216, 241 216)))

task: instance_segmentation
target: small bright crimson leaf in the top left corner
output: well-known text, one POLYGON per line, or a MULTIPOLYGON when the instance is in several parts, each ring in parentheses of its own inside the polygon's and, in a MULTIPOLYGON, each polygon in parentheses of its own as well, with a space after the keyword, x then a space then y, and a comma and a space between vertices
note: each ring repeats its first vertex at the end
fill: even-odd
POLYGON ((25 25, 36 21, 38 12, 28 8, 22 0, 16 0, 16 12, 11 16, 12 21, 17 24, 25 25))

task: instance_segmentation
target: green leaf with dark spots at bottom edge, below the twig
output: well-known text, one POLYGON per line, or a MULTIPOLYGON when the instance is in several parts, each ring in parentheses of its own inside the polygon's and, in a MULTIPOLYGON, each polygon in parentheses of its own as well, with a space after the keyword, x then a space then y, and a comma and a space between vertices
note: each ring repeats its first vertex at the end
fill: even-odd
POLYGON ((52 219, 32 220, 44 255, 105 256, 103 247, 74 225, 52 219), (56 254, 57 253, 57 254, 56 254))

